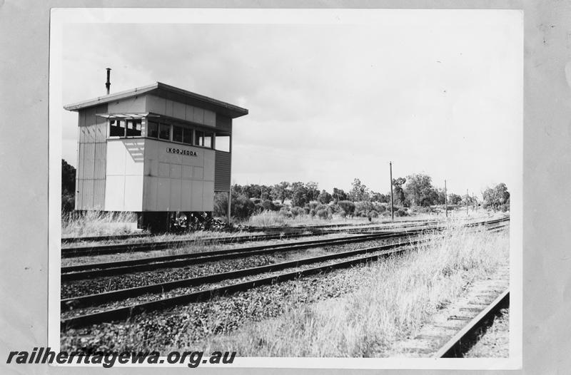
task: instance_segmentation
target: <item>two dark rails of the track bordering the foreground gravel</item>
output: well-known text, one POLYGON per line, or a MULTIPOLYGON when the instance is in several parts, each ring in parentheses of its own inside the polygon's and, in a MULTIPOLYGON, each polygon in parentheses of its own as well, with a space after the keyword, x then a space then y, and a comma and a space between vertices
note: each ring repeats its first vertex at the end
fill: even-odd
MULTIPOLYGON (((494 223, 498 221, 492 220, 491 222, 494 223)), ((487 224, 487 223, 482 222, 481 224, 487 224)), ((491 229, 494 230, 497 228, 492 227, 491 229)), ((97 324, 101 322, 113 322, 116 320, 128 319, 133 315, 141 314, 143 312, 151 312, 158 309, 168 309, 169 307, 173 307, 178 304, 198 302, 201 300, 212 298, 217 295, 239 292, 263 284, 273 284, 275 282, 282 282, 290 279, 295 279, 297 277, 307 276, 310 274, 319 274, 321 272, 328 272, 333 269, 351 267, 354 264, 370 262, 373 260, 378 260, 383 257, 388 257, 390 255, 397 255, 400 252, 405 252, 409 250, 412 245, 417 245, 418 242, 419 240, 398 242, 391 245, 368 247, 365 249, 351 250, 348 252, 338 252, 331 255, 322 255, 320 257, 310 257, 302 260, 269 264, 261 267, 238 269, 235 271, 223 272, 220 274, 209 274, 206 276, 194 277, 190 279, 182 279, 172 282, 164 282, 160 284, 151 284, 144 287, 119 289, 112 292, 104 292, 100 294, 91 294, 83 297, 72 297, 68 299, 62 299, 61 310, 66 311, 71 309, 79 309, 82 307, 90 307, 98 304, 104 304, 107 302, 113 302, 122 299, 128 299, 131 297, 141 296, 143 294, 161 294, 173 289, 193 287, 203 284, 211 284, 213 282, 220 282, 222 280, 236 279, 239 277, 247 277, 252 275, 265 274, 268 272, 281 271, 288 268, 290 269, 290 268, 300 267, 304 264, 315 264, 315 263, 329 262, 332 260, 340 260, 347 257, 353 257, 353 259, 350 260, 343 260, 340 262, 323 264, 318 267, 295 270, 293 272, 292 271, 284 272, 277 275, 261 277, 258 279, 251 279, 243 282, 236 282, 233 284, 213 287, 210 289, 202 289, 186 294, 175 295, 174 297, 166 297, 147 302, 131 304, 125 307, 111 308, 99 312, 79 314, 75 317, 62 319, 61 329, 84 327, 89 324, 97 324), (371 255, 370 253, 374 254, 371 255)))

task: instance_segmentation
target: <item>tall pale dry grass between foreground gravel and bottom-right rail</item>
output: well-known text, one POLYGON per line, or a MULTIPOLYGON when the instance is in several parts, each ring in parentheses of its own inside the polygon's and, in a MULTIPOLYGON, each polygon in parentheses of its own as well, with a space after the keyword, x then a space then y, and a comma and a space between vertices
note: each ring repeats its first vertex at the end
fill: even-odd
MULTIPOLYGON (((358 288, 345 297, 292 306, 276 319, 198 344, 232 348, 241 356, 383 356, 431 314, 458 297, 474 279, 508 262, 500 235, 450 227, 450 236, 358 269, 358 288)), ((431 237, 432 236, 432 237, 431 237)))

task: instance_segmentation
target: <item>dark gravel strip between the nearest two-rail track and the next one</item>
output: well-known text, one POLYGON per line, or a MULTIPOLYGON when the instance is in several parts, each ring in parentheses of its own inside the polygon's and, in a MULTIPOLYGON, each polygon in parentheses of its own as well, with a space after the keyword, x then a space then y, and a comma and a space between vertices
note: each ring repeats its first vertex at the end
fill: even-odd
POLYGON ((188 279, 207 274, 228 272, 236 269, 250 267, 260 267, 278 262, 288 262, 307 257, 316 257, 331 252, 343 252, 365 247, 374 247, 393 243, 395 240, 375 240, 366 242, 356 242, 345 245, 330 245, 324 247, 314 247, 300 251, 281 251, 266 255, 255 255, 216 262, 206 262, 201 264, 191 264, 186 267, 156 269, 153 271, 134 272, 110 277, 97 277, 94 279, 75 280, 62 282, 61 298, 81 297, 88 294, 108 292, 111 290, 141 287, 143 285, 158 284, 161 282, 174 281, 178 279, 188 279))

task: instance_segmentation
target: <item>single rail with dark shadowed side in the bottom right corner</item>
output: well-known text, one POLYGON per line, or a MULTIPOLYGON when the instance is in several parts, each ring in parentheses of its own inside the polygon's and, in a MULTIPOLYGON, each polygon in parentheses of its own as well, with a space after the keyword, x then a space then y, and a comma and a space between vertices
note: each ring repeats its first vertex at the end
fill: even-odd
POLYGON ((434 355, 434 358, 462 358, 475 344, 480 334, 489 328, 501 309, 510 307, 510 289, 506 289, 486 309, 472 319, 434 355))

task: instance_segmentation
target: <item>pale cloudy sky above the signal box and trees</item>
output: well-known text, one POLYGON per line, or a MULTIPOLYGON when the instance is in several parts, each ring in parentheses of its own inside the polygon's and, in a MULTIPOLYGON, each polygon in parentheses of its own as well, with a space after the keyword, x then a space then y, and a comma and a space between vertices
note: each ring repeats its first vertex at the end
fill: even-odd
MULTIPOLYGON (((384 193, 389 161, 393 178, 426 173, 458 194, 519 183, 521 14, 365 12, 363 22, 65 24, 62 103, 103 96, 109 67, 111 93, 160 81, 248 108, 233 126, 242 185, 349 190, 359 178, 384 193)), ((62 158, 75 166, 77 113, 61 111, 62 158)))

